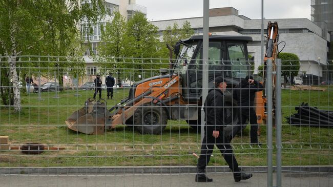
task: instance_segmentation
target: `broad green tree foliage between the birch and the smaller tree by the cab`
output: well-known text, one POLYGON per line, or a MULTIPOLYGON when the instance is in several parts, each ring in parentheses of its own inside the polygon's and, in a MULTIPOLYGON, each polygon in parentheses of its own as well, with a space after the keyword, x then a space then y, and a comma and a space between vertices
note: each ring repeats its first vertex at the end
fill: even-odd
POLYGON ((116 13, 102 32, 101 39, 105 45, 99 48, 100 56, 95 59, 97 65, 105 72, 116 71, 118 82, 120 73, 125 76, 122 78, 131 80, 136 80, 134 77, 138 75, 143 78, 143 71, 147 70, 158 74, 162 66, 152 63, 151 59, 166 58, 167 52, 159 41, 157 29, 142 13, 135 13, 127 23, 116 13))

